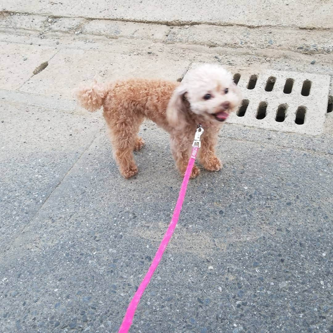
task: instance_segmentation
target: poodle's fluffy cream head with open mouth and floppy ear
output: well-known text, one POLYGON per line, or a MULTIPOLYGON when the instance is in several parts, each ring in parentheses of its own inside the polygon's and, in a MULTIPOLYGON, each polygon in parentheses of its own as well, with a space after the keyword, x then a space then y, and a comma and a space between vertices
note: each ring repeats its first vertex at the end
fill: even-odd
POLYGON ((176 126, 189 109, 209 123, 223 123, 240 102, 241 93, 232 74, 219 65, 204 64, 186 73, 170 98, 166 116, 176 126))

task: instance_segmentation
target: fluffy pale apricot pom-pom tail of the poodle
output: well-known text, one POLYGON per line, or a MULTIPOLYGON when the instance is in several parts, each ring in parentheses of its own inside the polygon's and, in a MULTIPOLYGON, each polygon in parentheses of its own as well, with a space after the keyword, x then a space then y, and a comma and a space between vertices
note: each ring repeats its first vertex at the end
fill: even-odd
POLYGON ((107 93, 108 85, 98 83, 95 78, 92 84, 75 89, 73 95, 80 106, 90 112, 95 112, 104 104, 107 93))

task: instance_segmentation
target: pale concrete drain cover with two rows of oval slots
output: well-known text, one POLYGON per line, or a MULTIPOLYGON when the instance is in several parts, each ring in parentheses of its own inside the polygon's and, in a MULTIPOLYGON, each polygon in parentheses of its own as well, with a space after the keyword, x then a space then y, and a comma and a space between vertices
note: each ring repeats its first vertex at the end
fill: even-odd
POLYGON ((234 75, 242 105, 228 123, 319 135, 327 112, 330 78, 299 72, 243 72, 234 75))

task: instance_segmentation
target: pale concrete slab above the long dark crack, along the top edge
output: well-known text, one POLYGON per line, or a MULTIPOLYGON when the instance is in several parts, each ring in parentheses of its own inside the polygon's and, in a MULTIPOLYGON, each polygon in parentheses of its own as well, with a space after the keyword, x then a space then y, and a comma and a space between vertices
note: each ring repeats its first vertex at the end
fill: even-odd
POLYGON ((108 18, 160 23, 215 23, 245 26, 292 26, 305 28, 332 28, 330 7, 332 0, 321 1, 121 1, 110 5, 107 0, 78 0, 29 3, 12 0, 2 5, 8 11, 53 16, 108 18), (306 8, 306 10, 304 9, 306 8), (320 16, 320 20, 318 17, 320 16))

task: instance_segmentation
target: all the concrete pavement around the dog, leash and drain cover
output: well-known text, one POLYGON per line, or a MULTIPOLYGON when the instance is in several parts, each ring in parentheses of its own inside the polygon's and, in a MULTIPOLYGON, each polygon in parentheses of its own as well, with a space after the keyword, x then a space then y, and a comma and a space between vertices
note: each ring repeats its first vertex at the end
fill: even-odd
MULTIPOLYGON (((209 61, 329 75, 332 95, 331 2, 297 3, 0 6, 3 332, 117 332, 177 199, 167 135, 143 124, 124 180, 72 88, 209 61)), ((190 182, 131 332, 333 331, 332 117, 319 136, 223 128, 224 168, 190 182)))

